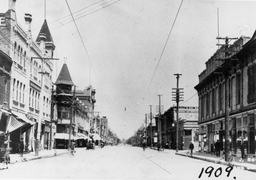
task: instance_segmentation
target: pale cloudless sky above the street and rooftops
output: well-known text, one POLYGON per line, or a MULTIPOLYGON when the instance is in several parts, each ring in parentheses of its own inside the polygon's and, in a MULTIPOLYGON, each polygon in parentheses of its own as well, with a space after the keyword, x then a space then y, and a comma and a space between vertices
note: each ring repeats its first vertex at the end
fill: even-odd
MULTIPOLYGON (((256 1, 67 2, 80 35, 64 0, 46 0, 46 14, 44 0, 17 0, 18 23, 24 27, 24 14, 32 14, 35 40, 46 15, 56 46, 54 58, 59 58, 54 62, 53 81, 67 58, 76 89, 89 84, 96 89, 95 111, 108 118, 119 139, 133 136, 145 122, 145 114, 150 114, 150 105, 152 113, 158 114, 157 95, 162 95, 164 111, 176 104, 174 74, 182 74, 180 105, 198 106, 194 88, 198 75, 218 49, 218 9, 220 37, 251 37, 256 30, 256 1)), ((2 0, 0 12, 7 10, 8 0, 2 0)))

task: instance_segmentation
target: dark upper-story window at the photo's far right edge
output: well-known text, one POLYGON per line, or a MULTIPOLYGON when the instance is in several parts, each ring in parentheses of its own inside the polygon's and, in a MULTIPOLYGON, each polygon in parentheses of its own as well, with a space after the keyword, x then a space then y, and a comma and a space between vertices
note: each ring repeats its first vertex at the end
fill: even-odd
POLYGON ((256 73, 255 63, 248 66, 247 75, 248 75, 248 94, 247 101, 248 103, 255 101, 255 73, 256 73))

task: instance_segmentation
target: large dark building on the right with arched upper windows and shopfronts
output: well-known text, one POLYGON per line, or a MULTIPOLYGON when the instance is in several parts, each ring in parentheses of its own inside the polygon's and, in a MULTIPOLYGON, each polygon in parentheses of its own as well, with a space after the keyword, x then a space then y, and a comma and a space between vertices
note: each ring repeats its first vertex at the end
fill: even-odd
POLYGON ((228 50, 229 61, 222 46, 207 62, 195 86, 199 96, 200 149, 210 152, 210 145, 220 140, 225 145, 225 129, 229 131, 230 151, 241 157, 240 147, 247 156, 255 153, 256 115, 256 31, 252 38, 241 36, 228 50), (228 81, 220 73, 232 67, 228 81), (225 83, 228 83, 229 119, 225 127, 225 83))

